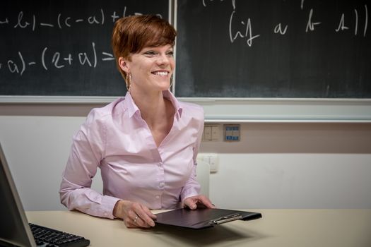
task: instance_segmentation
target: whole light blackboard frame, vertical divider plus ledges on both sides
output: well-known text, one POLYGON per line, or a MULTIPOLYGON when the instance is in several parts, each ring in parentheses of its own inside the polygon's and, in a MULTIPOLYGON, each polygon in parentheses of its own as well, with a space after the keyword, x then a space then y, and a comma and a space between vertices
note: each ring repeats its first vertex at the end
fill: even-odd
MULTIPOLYGON (((177 1, 169 0, 169 20, 177 26, 177 1)), ((176 56, 176 47, 175 47, 176 56)), ((176 86, 176 75, 172 92, 176 86)), ((116 97, 18 96, 0 95, 6 104, 105 104, 116 97)), ((200 104, 206 122, 324 122, 371 123, 371 99, 306 98, 196 98, 179 97, 184 102, 200 104)))

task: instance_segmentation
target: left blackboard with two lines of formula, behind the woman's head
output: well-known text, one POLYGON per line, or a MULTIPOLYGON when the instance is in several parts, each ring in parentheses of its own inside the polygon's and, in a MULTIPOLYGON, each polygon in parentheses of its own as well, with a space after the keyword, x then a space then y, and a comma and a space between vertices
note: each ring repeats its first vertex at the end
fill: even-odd
POLYGON ((0 95, 124 95, 110 37, 139 13, 167 19, 169 1, 2 0, 0 95))

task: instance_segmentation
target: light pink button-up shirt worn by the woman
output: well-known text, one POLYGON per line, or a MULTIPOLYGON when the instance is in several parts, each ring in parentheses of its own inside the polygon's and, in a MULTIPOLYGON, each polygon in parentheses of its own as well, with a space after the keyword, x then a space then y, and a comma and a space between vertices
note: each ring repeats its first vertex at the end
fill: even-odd
POLYGON ((71 154, 61 181, 61 203, 69 210, 113 218, 117 200, 131 200, 150 209, 172 209, 199 194, 196 156, 204 129, 204 111, 164 97, 175 107, 174 122, 159 147, 130 93, 93 109, 73 136, 71 154), (100 168, 103 193, 93 191, 100 168))

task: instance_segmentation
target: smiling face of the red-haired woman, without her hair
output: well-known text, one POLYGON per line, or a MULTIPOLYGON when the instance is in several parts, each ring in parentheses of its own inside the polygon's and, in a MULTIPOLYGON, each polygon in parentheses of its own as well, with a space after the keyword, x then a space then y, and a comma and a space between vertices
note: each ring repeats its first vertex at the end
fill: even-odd
POLYGON ((131 75, 130 90, 167 90, 175 68, 172 45, 144 47, 130 59, 120 57, 119 66, 131 75))

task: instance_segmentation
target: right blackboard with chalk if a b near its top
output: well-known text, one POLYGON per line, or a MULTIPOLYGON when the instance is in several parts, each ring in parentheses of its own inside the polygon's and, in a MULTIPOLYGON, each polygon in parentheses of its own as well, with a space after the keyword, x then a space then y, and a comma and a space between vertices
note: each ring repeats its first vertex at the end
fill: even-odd
POLYGON ((179 97, 371 98, 370 1, 177 1, 179 97))

